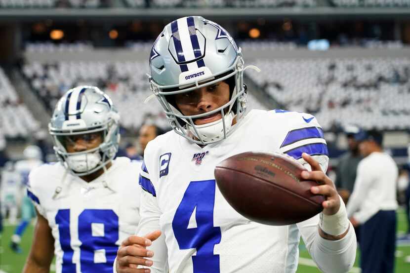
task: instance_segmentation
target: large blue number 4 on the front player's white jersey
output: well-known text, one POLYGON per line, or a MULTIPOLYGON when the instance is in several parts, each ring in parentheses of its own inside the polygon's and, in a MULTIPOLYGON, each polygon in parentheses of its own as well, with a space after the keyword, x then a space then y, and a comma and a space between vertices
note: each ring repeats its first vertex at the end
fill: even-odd
POLYGON ((215 180, 192 181, 179 204, 172 229, 180 249, 196 248, 192 256, 194 273, 219 273, 219 255, 213 254, 215 244, 221 241, 221 228, 213 226, 215 180), (197 228, 188 228, 196 208, 197 228))

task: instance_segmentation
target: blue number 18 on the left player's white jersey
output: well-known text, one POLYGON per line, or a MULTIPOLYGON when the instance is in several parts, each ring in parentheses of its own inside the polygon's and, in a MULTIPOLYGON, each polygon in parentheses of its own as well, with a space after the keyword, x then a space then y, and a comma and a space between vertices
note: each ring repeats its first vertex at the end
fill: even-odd
MULTIPOLYGON (((63 250, 62 273, 75 273, 74 250, 71 247, 70 209, 60 209, 55 216, 63 250)), ((78 218, 80 246, 80 271, 82 273, 112 273, 118 246, 118 216, 111 209, 84 209, 78 218), (104 234, 93 234, 92 224, 102 224, 104 234), (105 263, 94 263, 95 251, 105 254, 105 263)))

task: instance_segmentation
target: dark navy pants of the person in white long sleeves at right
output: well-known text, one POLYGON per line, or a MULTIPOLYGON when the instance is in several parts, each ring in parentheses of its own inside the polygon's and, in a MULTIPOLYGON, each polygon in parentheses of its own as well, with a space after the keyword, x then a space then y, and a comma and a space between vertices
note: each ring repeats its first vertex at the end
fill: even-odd
POLYGON ((396 211, 380 210, 360 227, 362 273, 394 273, 396 211))

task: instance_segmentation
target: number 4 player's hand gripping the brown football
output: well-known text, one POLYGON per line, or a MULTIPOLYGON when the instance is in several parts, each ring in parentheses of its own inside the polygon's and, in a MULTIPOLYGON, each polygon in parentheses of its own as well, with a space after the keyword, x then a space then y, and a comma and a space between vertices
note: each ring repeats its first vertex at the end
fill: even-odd
POLYGON ((303 171, 301 173, 302 178, 317 181, 320 184, 310 188, 310 191, 315 195, 324 195, 326 197, 326 200, 322 203, 324 214, 335 214, 339 210, 340 199, 333 181, 323 172, 319 162, 313 159, 312 156, 303 153, 302 157, 312 167, 312 171, 303 171))

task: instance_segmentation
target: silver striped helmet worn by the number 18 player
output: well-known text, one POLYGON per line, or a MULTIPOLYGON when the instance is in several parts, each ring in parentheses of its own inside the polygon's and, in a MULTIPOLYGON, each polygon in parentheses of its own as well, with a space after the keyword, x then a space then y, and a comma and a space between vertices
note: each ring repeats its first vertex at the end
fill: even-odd
POLYGON ((95 86, 78 86, 67 91, 57 103, 49 133, 58 159, 74 175, 90 174, 114 158, 120 142, 120 115, 110 97, 95 86), (68 153, 68 136, 101 132, 102 143, 91 150, 68 153))

